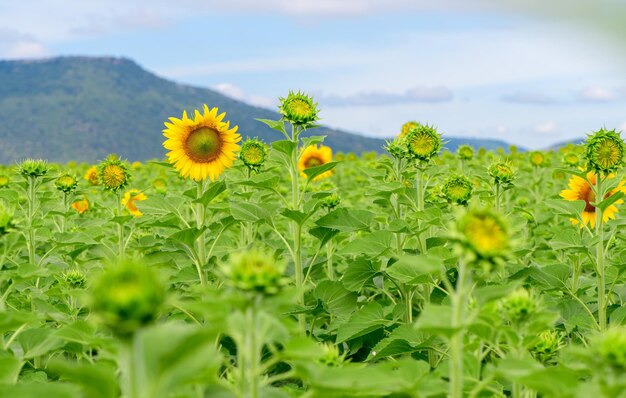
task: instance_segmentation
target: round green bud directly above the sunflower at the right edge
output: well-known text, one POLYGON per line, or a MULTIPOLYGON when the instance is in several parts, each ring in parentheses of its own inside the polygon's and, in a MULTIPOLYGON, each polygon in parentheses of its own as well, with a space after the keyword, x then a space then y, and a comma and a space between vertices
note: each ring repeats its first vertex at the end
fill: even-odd
POLYGON ((624 140, 615 130, 600 129, 587 138, 585 159, 587 167, 598 173, 609 174, 624 164, 624 140))

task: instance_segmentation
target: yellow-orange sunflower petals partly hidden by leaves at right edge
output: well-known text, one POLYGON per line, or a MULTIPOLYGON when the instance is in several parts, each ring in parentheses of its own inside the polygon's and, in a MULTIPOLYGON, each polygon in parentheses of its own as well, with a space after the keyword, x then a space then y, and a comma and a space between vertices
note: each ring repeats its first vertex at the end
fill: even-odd
MULTIPOLYGON (((615 178, 614 174, 609 174, 608 178, 615 178)), ((565 200, 584 200, 585 201, 585 209, 581 214, 581 218, 583 220, 583 224, 589 224, 591 228, 594 228, 596 225, 596 207, 592 205, 596 201, 596 194, 593 192, 592 185, 596 183, 596 174, 593 171, 587 173, 587 180, 581 178, 579 176, 572 176, 569 180, 569 189, 564 189, 561 191, 561 197, 565 200), (587 181, 589 180, 589 181, 587 181), (591 183, 591 185, 589 185, 591 183)), ((611 190, 606 194, 605 199, 609 196, 617 193, 617 192, 626 193, 626 187, 624 186, 624 181, 620 181, 617 187, 611 190)), ((624 201, 619 199, 615 201, 614 204, 607 207, 602 213, 602 221, 606 222, 608 220, 615 218, 615 213, 617 213, 618 204, 622 204, 624 201)), ((572 219, 572 224, 577 225, 578 220, 572 219)), ((581 225, 582 228, 582 225, 581 225)))

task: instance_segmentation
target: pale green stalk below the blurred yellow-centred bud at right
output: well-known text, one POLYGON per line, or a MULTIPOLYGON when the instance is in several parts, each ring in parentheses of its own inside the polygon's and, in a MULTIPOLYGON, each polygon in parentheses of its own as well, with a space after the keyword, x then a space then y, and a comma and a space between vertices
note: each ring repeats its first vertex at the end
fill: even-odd
POLYGON ((456 291, 452 294, 452 327, 455 329, 450 339, 450 398, 463 397, 463 307, 465 306, 465 262, 459 261, 459 275, 456 291))

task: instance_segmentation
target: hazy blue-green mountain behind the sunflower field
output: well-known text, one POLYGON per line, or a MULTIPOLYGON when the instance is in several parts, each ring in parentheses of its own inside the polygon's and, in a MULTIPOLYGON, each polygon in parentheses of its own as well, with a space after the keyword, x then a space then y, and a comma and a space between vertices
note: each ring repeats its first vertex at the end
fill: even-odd
MULTIPOLYGON (((95 162, 109 153, 129 160, 162 158, 163 122, 203 104, 225 111, 244 137, 267 142, 282 137, 255 120, 277 119, 276 112, 163 79, 126 58, 0 61, 0 162, 26 157, 95 162)), ((382 139, 328 127, 310 134, 327 135, 335 151, 381 151, 384 145, 382 139)), ((446 139, 450 150, 460 143, 508 147, 495 140, 446 139)))

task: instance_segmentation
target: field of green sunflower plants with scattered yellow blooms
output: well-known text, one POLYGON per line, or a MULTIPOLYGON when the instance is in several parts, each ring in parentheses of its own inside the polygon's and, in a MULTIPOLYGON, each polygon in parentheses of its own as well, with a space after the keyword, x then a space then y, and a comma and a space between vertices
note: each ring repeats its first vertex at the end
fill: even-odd
POLYGON ((205 106, 165 161, 0 170, 0 397, 626 397, 618 132, 356 156, 280 102, 271 143, 205 106))

